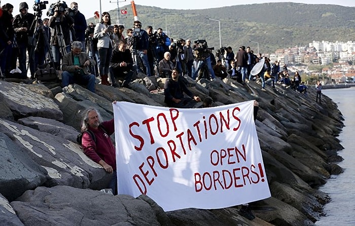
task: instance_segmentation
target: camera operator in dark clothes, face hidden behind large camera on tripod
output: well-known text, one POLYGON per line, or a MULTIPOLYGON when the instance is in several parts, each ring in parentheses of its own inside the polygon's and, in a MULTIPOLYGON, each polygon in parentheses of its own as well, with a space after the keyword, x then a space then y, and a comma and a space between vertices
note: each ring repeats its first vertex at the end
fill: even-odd
POLYGON ((65 3, 56 3, 48 9, 47 15, 53 15, 49 19, 49 27, 52 28, 51 48, 56 69, 59 69, 60 59, 70 52, 70 27, 74 24, 74 19, 65 14, 68 8, 65 3))

